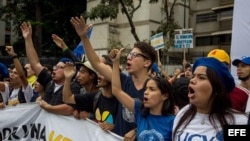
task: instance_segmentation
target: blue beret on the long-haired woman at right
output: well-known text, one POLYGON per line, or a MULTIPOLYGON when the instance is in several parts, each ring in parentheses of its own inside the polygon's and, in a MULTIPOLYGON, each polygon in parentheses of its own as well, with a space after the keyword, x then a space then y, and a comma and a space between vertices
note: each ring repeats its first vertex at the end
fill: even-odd
POLYGON ((234 89, 234 78, 224 63, 212 57, 201 57, 195 61, 192 68, 192 73, 194 73, 194 70, 198 66, 205 66, 214 70, 220 80, 222 80, 222 83, 225 85, 229 93, 234 89))

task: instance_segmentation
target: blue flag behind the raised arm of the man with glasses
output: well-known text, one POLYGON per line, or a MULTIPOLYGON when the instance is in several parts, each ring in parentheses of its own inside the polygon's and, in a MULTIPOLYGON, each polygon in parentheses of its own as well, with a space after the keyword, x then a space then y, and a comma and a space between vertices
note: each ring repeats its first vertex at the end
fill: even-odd
MULTIPOLYGON (((93 30, 93 27, 90 27, 89 30, 88 30, 88 33, 87 33, 87 37, 90 38, 91 34, 92 34, 92 30, 93 30)), ((83 61, 83 56, 85 54, 84 52, 84 46, 82 44, 82 42, 80 42, 76 48, 73 50, 73 53, 74 55, 81 61, 83 61)))

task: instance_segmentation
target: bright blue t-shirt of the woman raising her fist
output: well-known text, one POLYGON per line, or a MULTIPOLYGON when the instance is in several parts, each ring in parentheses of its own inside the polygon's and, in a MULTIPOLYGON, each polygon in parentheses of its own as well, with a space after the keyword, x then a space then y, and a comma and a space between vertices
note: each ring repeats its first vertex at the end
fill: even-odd
POLYGON ((142 116, 141 102, 135 100, 135 119, 137 123, 137 141, 171 141, 174 115, 142 116))

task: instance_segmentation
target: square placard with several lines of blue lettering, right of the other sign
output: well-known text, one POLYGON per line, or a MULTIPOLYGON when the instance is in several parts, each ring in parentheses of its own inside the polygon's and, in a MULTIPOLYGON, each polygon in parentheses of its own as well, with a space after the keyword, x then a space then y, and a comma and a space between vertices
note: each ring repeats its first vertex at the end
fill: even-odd
POLYGON ((193 29, 175 30, 175 48, 193 48, 193 29))

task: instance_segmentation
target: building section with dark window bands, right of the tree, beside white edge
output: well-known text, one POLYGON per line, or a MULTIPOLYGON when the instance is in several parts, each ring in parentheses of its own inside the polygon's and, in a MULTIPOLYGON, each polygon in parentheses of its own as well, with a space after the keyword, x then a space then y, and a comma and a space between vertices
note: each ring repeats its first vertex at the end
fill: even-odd
POLYGON ((220 48, 230 53, 234 0, 191 0, 189 22, 194 30, 194 48, 188 58, 206 56, 220 48))

